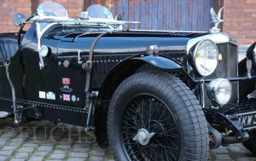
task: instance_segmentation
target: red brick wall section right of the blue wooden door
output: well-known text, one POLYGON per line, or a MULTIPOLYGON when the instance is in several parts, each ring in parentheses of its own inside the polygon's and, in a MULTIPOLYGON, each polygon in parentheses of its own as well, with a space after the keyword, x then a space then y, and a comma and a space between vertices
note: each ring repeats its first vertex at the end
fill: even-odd
POLYGON ((225 0, 223 31, 234 36, 239 45, 256 41, 256 0, 225 0))

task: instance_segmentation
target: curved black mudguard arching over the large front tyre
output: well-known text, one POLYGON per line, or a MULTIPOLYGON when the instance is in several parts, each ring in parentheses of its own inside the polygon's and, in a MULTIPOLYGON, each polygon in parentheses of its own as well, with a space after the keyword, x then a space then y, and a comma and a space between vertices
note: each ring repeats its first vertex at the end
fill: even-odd
POLYGON ((134 55, 116 64, 104 79, 97 97, 98 106, 95 109, 95 134, 97 143, 102 148, 108 147, 108 137, 106 136, 106 120, 109 101, 116 88, 127 77, 131 76, 144 64, 152 64, 161 69, 181 69, 183 66, 179 62, 164 55, 140 54, 134 55))

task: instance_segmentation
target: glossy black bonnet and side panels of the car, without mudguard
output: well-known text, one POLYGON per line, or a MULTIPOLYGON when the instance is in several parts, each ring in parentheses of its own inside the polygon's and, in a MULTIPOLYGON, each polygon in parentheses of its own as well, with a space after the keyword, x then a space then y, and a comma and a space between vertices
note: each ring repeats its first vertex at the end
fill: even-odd
MULTIPOLYGON (((77 63, 77 52, 81 50, 81 60, 86 62, 90 46, 98 34, 99 32, 86 34, 86 29, 62 30, 56 26, 56 29, 48 31, 42 39, 42 45, 49 47, 50 54, 44 58, 46 67, 40 70, 36 52, 35 25, 32 25, 20 45, 20 53, 17 53, 21 55, 22 66, 24 66, 24 99, 84 108, 85 71, 81 68, 81 64, 77 63), (70 63, 68 67, 63 66, 65 60, 70 63), (63 87, 62 78, 70 78, 72 92, 60 91, 63 87), (40 99, 38 91, 54 92, 56 100, 40 99), (76 95, 79 101, 63 101, 59 97, 62 94, 76 95)), ((160 47, 160 53, 184 52, 188 40, 196 34, 198 33, 144 31, 120 31, 107 34, 100 38, 93 50, 95 63, 93 64, 92 90, 99 90, 109 71, 127 57, 145 53, 148 46, 155 44, 160 47)), ((150 57, 140 59, 150 59, 150 57)), ((13 65, 16 63, 12 62, 13 65)), ((162 63, 159 65, 164 66, 162 63)))

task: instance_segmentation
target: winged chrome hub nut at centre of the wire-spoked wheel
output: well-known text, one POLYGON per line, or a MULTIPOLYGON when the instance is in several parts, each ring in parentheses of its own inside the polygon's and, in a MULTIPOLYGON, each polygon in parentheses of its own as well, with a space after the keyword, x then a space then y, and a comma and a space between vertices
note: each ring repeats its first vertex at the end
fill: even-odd
POLYGON ((141 145, 147 145, 154 135, 155 133, 149 133, 146 129, 140 129, 132 140, 138 141, 141 145))

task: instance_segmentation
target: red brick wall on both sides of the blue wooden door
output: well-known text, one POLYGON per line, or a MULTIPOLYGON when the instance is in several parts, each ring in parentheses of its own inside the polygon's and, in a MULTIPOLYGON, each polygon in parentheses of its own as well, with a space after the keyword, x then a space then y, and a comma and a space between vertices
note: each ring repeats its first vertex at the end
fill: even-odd
MULTIPOLYGON (((17 32, 19 27, 12 23, 13 13, 21 12, 29 17, 43 1, 49 0, 0 0, 0 32, 17 32)), ((83 11, 83 0, 54 1, 65 6, 70 17, 79 17, 83 11)), ((239 44, 246 45, 256 41, 256 0, 224 0, 223 5, 223 30, 237 38, 239 44)))

